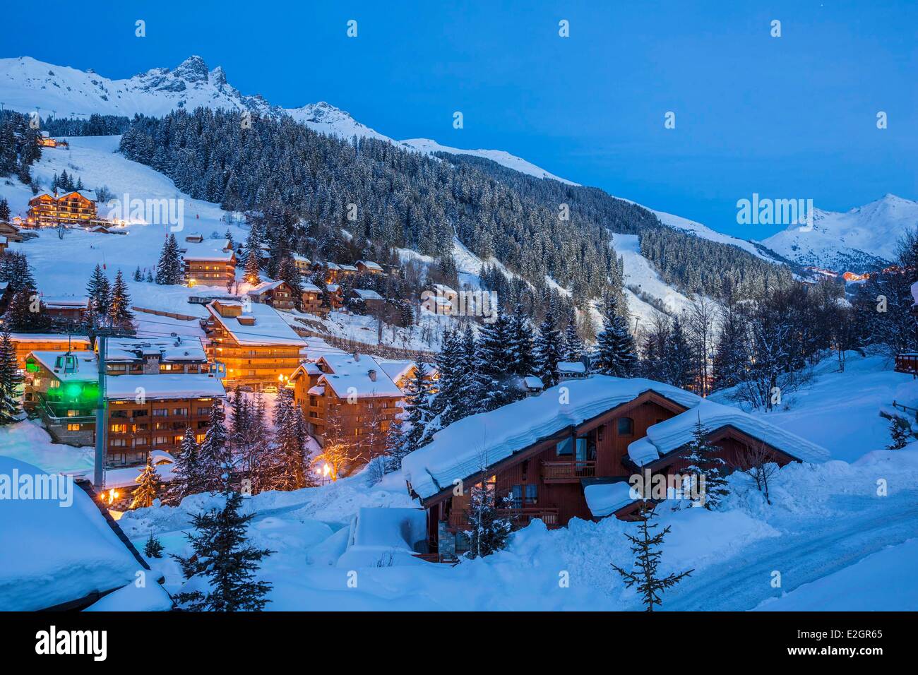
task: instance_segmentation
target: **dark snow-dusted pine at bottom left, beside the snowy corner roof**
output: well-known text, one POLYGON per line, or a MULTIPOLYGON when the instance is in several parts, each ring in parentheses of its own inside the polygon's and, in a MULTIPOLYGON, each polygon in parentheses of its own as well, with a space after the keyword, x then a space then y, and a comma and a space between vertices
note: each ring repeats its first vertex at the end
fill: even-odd
POLYGON ((191 612, 260 612, 272 585, 256 580, 255 572, 273 551, 249 546, 248 523, 255 513, 240 513, 242 496, 230 487, 229 465, 224 470, 223 506, 192 516, 195 532, 185 535, 195 556, 173 556, 185 579, 207 578, 207 592, 183 591, 175 600, 191 612))

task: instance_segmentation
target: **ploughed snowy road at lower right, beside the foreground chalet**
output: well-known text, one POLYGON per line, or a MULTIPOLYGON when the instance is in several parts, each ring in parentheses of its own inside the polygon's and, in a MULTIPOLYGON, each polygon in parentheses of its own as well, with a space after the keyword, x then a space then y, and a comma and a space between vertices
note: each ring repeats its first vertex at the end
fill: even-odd
MULTIPOLYGON (((767 539, 720 568, 707 568, 664 596, 663 609, 751 610, 768 598, 822 579, 886 546, 918 536, 918 490, 885 499, 840 496, 829 503, 837 512, 821 526, 801 521, 799 532, 767 539), (781 573, 781 589, 771 588, 773 570, 781 573)), ((881 609, 881 608, 877 608, 881 609)))

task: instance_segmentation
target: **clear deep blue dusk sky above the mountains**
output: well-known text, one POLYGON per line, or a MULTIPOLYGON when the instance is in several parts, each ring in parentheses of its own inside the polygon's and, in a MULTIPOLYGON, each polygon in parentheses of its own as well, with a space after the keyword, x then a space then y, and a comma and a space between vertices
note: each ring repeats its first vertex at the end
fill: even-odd
POLYGON ((918 199, 915 0, 74 9, 6 4, 0 56, 123 78, 199 54, 243 94, 283 107, 328 101, 395 139, 506 150, 745 239, 780 229, 736 223, 736 200, 754 192, 832 210, 886 193, 918 199), (39 39, 36 12, 66 29, 39 39), (464 129, 453 129, 456 110, 464 129), (675 129, 664 128, 667 111, 675 129), (888 129, 877 129, 879 111, 888 129))

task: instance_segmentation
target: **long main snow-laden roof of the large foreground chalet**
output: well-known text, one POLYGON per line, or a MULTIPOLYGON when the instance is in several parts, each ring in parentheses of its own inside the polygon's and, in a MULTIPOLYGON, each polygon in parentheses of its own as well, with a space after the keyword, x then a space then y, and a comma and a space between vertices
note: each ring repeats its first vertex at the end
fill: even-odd
POLYGON ((644 377, 593 376, 567 381, 540 396, 522 399, 495 411, 479 412, 433 434, 425 445, 402 460, 411 487, 431 497, 482 468, 513 455, 569 426, 577 426, 646 391, 690 408, 701 398, 684 389, 644 377), (560 388, 567 389, 565 397, 560 388), (560 403, 567 400, 567 403, 560 403))

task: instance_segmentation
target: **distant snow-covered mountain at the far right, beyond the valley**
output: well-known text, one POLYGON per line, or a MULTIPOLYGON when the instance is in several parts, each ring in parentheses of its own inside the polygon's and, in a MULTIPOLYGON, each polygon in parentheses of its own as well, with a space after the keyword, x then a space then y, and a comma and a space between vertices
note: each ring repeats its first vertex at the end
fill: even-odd
POLYGON ((812 231, 792 225, 763 240, 800 264, 862 272, 895 257, 901 235, 918 227, 918 202, 886 195, 845 213, 813 209, 812 231))

